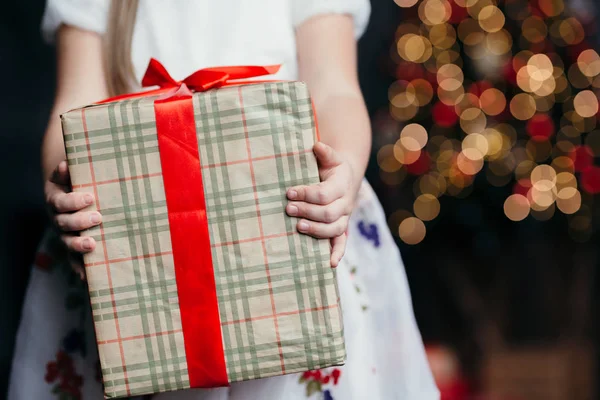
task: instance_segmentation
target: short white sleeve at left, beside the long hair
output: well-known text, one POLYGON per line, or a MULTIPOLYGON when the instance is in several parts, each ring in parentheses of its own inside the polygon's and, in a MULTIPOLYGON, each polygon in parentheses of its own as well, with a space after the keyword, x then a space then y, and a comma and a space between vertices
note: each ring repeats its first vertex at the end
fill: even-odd
POLYGON ((106 31, 110 0, 47 0, 42 19, 42 36, 53 43, 62 25, 103 34, 106 31))

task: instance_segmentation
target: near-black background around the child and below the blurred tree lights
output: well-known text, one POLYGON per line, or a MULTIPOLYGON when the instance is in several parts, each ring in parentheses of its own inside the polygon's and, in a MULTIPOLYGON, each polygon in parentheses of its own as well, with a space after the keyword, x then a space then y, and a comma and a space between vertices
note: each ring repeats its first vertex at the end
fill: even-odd
MULTIPOLYGON (((30 264, 47 223, 39 147, 55 67, 53 49, 39 34, 44 3, 9 2, 0 13, 0 393, 9 378, 30 264)), ((392 0, 372 3, 371 23, 360 42, 359 70, 374 116, 388 104, 394 78, 383 66, 403 11, 392 0)), ((597 2, 593 5, 600 8, 597 2)), ((410 206, 412 189, 384 185, 375 162, 367 177, 386 211, 410 206)), ((565 339, 591 341, 588 348, 596 348, 592 316, 597 313, 598 233, 578 243, 560 216, 513 223, 502 210, 509 192, 476 179, 466 199, 441 199, 440 216, 427 226, 423 242, 399 243, 424 341, 454 349, 465 376, 475 382, 490 348, 565 339)))

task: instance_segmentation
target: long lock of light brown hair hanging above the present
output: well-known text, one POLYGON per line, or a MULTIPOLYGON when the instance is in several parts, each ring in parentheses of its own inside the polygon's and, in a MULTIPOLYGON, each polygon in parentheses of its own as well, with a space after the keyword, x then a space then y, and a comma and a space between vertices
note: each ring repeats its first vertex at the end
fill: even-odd
POLYGON ((104 37, 104 71, 111 96, 129 92, 135 85, 131 42, 139 0, 112 0, 104 37))

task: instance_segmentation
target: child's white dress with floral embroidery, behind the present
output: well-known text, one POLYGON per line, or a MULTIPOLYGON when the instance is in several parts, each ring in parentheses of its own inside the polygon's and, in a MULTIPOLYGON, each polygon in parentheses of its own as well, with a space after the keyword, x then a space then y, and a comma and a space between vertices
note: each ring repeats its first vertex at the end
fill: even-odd
MULTIPOLYGON (((108 4, 49 0, 42 31, 49 41, 61 23, 103 33, 108 4)), ((141 78, 154 57, 182 79, 209 66, 282 63, 275 78, 296 79, 295 26, 315 14, 347 13, 354 17, 358 37, 369 11, 368 0, 141 0, 133 36, 134 68, 141 78)), ((152 399, 438 399, 404 266, 366 181, 351 218, 338 280, 345 366, 152 399)), ((61 262, 48 235, 27 291, 8 398, 100 399, 99 382, 85 286, 61 262)))

